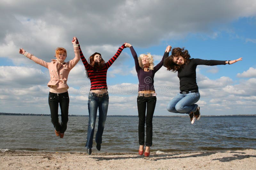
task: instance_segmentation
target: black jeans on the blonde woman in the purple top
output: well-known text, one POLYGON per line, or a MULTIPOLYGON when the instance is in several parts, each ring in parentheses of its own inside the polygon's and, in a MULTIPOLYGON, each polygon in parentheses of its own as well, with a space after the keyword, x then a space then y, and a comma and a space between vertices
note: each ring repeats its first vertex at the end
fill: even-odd
POLYGON ((139 144, 152 146, 152 118, 156 107, 156 96, 137 97, 138 113, 139 113, 139 144), (147 109, 147 115, 146 115, 147 109), (146 142, 145 142, 145 122, 146 122, 146 142))

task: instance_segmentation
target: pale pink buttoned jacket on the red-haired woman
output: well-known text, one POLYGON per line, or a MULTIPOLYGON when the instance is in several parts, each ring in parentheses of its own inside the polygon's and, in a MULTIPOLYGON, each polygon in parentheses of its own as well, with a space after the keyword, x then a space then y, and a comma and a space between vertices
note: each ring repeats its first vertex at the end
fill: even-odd
POLYGON ((68 74, 70 70, 75 67, 75 65, 80 60, 80 51, 78 47, 74 47, 75 58, 73 60, 69 60, 68 62, 63 62, 62 66, 59 70, 57 70, 57 60, 52 59, 52 62, 46 62, 37 58, 36 56, 30 53, 27 54, 27 57, 31 60, 35 61, 37 64, 44 66, 49 69, 50 73, 50 81, 48 82, 47 86, 57 86, 57 89, 65 88, 68 89, 67 81, 68 81, 68 74))

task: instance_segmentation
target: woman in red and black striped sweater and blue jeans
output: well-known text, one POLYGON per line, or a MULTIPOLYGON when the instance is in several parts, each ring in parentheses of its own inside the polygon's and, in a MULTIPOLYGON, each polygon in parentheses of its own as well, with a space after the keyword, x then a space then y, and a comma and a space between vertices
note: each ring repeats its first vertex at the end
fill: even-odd
MULTIPOLYGON (((77 41, 78 44, 78 41, 77 41)), ((96 148, 100 151, 102 143, 102 134, 104 130, 105 121, 108 112, 108 87, 107 87, 107 71, 108 68, 114 63, 123 49, 126 48, 124 44, 118 48, 116 54, 105 63, 100 53, 93 53, 89 57, 89 63, 84 58, 84 55, 80 50, 81 60, 83 61, 86 75, 91 81, 91 89, 88 96, 88 110, 89 110, 89 121, 87 131, 87 142, 86 151, 88 154, 92 153, 92 141, 94 134, 94 127, 97 117, 97 110, 99 108, 99 122, 98 130, 95 137, 96 148)))

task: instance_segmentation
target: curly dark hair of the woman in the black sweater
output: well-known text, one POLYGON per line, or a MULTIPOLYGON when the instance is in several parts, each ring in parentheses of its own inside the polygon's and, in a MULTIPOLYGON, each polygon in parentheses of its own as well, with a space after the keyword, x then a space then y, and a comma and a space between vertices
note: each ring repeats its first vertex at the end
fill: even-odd
POLYGON ((188 50, 185 50, 184 47, 176 47, 172 49, 172 54, 164 60, 164 66, 167 67, 167 70, 173 71, 174 73, 177 71, 180 71, 182 68, 184 68, 185 64, 189 63, 190 55, 188 53, 188 50), (182 56, 184 58, 184 64, 178 65, 173 62, 173 57, 182 56))

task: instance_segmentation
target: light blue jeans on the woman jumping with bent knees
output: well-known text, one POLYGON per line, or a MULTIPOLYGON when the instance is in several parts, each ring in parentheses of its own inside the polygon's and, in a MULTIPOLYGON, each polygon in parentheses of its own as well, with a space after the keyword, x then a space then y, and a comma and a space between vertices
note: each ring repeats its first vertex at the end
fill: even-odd
POLYGON ((167 105, 167 110, 172 113, 187 113, 195 112, 200 98, 199 93, 178 94, 167 105))

